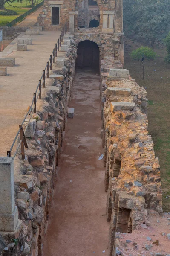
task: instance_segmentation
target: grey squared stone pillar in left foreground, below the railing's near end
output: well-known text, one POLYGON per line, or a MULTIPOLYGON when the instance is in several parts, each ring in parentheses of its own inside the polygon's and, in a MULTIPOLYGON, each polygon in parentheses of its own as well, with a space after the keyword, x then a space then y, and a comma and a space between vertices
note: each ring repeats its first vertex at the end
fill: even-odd
POLYGON ((0 231, 15 231, 18 210, 14 198, 13 157, 0 157, 0 231))

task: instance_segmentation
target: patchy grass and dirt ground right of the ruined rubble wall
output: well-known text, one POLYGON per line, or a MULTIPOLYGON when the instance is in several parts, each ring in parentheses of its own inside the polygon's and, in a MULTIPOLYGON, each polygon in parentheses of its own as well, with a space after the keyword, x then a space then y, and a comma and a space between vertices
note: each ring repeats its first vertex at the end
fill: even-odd
POLYGON ((156 46, 154 51, 158 57, 155 61, 144 62, 145 77, 142 80, 141 62, 134 61, 129 55, 138 47, 141 47, 139 42, 125 38, 124 68, 147 90, 149 133, 161 165, 163 209, 170 212, 170 64, 164 62, 166 49, 156 46))

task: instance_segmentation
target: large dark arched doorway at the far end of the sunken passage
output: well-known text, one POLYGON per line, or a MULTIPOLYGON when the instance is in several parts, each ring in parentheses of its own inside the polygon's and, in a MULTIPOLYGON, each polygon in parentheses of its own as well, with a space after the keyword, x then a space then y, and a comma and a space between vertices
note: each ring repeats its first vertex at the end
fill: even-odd
POLYGON ((85 40, 78 44, 76 68, 99 70, 100 51, 95 42, 85 40))

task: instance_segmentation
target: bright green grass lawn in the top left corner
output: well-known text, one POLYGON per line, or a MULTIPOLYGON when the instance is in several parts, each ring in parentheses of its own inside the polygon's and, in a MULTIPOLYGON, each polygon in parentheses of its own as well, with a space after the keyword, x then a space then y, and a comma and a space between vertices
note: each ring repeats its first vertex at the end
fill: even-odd
MULTIPOLYGON (((40 3, 42 0, 38 1, 40 3)), ((17 15, 0 15, 0 26, 6 26, 7 23, 11 22, 12 20, 16 19, 18 16, 22 15, 23 13, 27 12, 32 6, 29 5, 29 2, 23 0, 22 3, 18 3, 17 1, 12 3, 13 6, 9 6, 8 3, 5 4, 5 8, 9 10, 14 10, 17 12, 17 15)))

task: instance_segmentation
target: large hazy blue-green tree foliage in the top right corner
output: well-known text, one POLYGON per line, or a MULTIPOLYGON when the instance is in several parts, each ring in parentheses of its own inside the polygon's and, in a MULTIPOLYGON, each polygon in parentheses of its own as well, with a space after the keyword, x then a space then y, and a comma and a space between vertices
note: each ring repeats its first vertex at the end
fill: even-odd
POLYGON ((123 0, 125 35, 150 42, 167 35, 170 0, 123 0))

